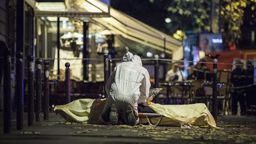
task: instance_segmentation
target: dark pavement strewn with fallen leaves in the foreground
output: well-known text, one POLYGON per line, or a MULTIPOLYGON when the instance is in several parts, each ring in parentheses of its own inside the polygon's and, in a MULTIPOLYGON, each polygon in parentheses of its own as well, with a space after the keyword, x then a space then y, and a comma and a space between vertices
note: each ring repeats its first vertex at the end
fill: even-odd
POLYGON ((15 114, 12 132, 3 133, 3 113, 0 112, 0 143, 256 143, 256 117, 218 117, 220 129, 180 126, 98 125, 66 122, 60 115, 50 113, 50 119, 15 130, 15 114))

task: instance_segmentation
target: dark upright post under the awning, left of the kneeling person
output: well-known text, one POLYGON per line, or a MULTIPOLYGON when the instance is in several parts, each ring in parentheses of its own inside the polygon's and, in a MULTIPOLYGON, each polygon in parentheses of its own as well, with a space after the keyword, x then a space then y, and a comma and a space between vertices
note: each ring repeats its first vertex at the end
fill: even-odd
MULTIPOLYGON (((83 30, 83 34, 84 34, 84 44, 83 44, 83 49, 82 49, 82 53, 83 53, 83 58, 86 59, 88 58, 88 52, 87 52, 87 34, 88 34, 88 26, 89 23, 88 22, 84 22, 84 30, 83 30)), ((87 75, 87 60, 83 60, 83 76, 84 76, 84 80, 88 81, 88 75, 87 75)))

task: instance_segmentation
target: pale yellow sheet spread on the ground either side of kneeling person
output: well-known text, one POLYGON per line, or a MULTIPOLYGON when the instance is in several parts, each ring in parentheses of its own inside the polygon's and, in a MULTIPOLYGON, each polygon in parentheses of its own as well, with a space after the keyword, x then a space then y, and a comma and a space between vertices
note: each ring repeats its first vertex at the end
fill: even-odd
MULTIPOLYGON (((105 105, 106 99, 79 99, 66 105, 56 105, 54 111, 69 122, 100 124, 98 117, 105 105)), ((205 104, 161 105, 149 103, 156 113, 165 117, 160 125, 178 125, 187 123, 193 126, 216 127, 215 120, 205 104)), ((156 123, 158 118, 152 119, 156 123)), ((140 119, 139 123, 147 123, 140 119)))

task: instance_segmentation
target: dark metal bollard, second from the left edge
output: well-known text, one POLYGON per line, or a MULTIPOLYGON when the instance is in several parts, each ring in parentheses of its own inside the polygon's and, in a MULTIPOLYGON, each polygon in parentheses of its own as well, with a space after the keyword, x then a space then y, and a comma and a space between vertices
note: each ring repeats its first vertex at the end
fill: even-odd
POLYGON ((24 91, 23 91, 23 53, 16 53, 16 103, 17 103, 17 130, 23 129, 23 101, 24 101, 24 91))

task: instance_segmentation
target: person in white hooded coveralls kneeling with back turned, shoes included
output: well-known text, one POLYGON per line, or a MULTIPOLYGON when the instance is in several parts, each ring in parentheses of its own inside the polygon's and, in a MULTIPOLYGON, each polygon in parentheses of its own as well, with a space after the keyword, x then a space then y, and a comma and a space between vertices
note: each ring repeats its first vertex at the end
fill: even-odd
POLYGON ((146 103, 151 83, 149 72, 143 68, 139 56, 130 52, 123 56, 108 78, 105 89, 107 103, 101 113, 100 120, 107 124, 117 124, 118 114, 123 111, 123 121, 129 125, 139 123, 137 105, 146 103))

